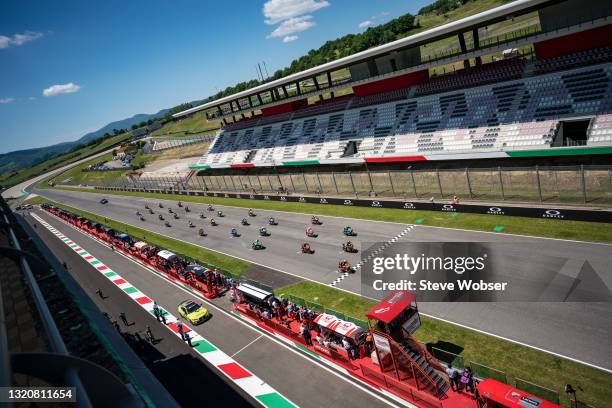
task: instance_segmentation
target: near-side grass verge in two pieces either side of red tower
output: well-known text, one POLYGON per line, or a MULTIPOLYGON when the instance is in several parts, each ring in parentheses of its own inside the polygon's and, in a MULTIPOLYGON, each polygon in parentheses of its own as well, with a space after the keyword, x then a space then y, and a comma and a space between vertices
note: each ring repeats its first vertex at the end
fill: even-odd
MULTIPOLYGON (((314 282, 298 282, 275 290, 277 295, 292 295, 338 310, 347 316, 364 318, 375 302, 314 282)), ((579 399, 593 407, 612 401, 612 374, 552 354, 515 344, 473 330, 421 316, 415 337, 441 349, 462 350, 466 365, 477 363, 506 372, 508 384, 515 379, 530 381, 559 392, 563 406, 570 406, 563 387, 570 383, 579 390, 579 399)))

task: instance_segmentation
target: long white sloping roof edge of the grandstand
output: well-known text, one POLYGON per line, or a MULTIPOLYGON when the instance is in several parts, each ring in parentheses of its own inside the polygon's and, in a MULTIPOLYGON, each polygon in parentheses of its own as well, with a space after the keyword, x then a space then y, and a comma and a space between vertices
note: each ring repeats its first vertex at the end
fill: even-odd
POLYGON ((401 38, 396 41, 392 41, 387 44, 379 45, 361 52, 358 52, 347 57, 339 58, 337 60, 319 65, 317 67, 309 68, 307 70, 296 72, 295 74, 288 75, 283 78, 276 79, 274 81, 267 82, 265 84, 258 85, 256 87, 237 92, 235 94, 225 96, 223 98, 204 103, 202 105, 195 106, 193 108, 184 110, 182 112, 175 113, 172 115, 175 118, 192 114, 194 112, 213 108, 225 103, 245 98, 251 95, 255 95, 259 92, 265 92, 275 87, 279 87, 283 84, 288 84, 294 81, 303 80, 310 78, 321 73, 325 73, 334 69, 344 68, 348 65, 367 60, 379 55, 383 55, 392 51, 406 48, 410 45, 416 45, 425 41, 434 41, 441 37, 456 33, 461 30, 467 30, 476 25, 491 24, 493 22, 504 19, 508 16, 512 16, 517 13, 524 13, 534 8, 541 7, 546 3, 551 3, 552 0, 516 0, 508 4, 495 7, 473 16, 468 16, 460 20, 456 20, 447 24, 443 24, 438 27, 431 28, 421 33, 411 35, 405 38, 401 38))

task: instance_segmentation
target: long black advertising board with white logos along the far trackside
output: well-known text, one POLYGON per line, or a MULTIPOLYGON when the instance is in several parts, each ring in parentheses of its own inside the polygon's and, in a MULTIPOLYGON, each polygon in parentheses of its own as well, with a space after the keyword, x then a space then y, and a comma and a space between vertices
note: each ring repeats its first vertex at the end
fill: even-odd
MULTIPOLYGON (((143 191, 141 188, 119 188, 108 187, 98 188, 102 190, 118 190, 118 191, 143 191)), ((334 197, 301 197, 301 196, 278 196, 264 194, 240 194, 240 193, 208 193, 205 191, 191 191, 187 193, 185 190, 158 190, 144 189, 144 192, 162 193, 162 194, 182 194, 182 195, 197 195, 204 197, 225 197, 225 198, 240 198, 246 200, 269 200, 269 201, 284 201, 284 202, 299 202, 310 204, 334 204, 356 207, 371 207, 371 208, 398 208, 404 210, 429 210, 441 211, 447 213, 469 213, 469 214, 489 214, 489 215, 508 215, 515 217, 529 218, 544 218, 553 220, 571 220, 571 221, 590 221, 612 223, 612 211, 597 211, 589 209, 559 209, 559 208, 538 208, 538 207, 520 207, 520 206, 490 206, 477 204, 443 204, 443 203, 427 203, 427 202, 409 202, 396 200, 375 200, 375 199, 345 199, 334 197)))

